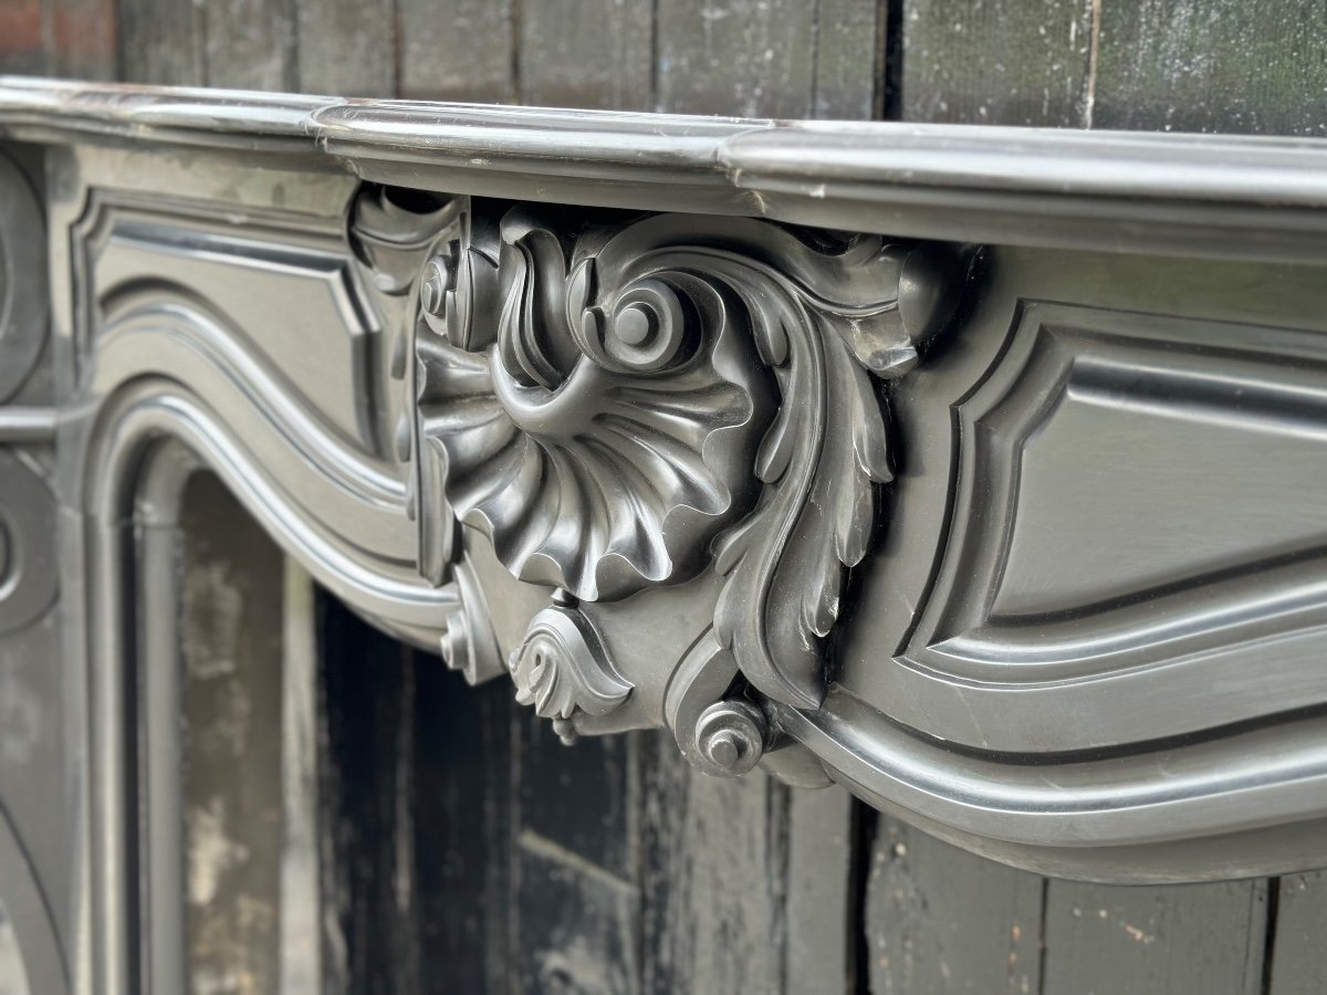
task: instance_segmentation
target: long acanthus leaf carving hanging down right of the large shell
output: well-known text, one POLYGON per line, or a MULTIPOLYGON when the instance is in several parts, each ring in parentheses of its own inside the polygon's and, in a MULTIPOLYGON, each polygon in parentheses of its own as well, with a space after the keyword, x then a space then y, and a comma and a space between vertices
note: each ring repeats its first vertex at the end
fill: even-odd
MULTIPOLYGON (((780 248, 786 263, 803 261, 800 243, 780 248)), ((727 577, 715 635, 752 685, 800 707, 824 695, 823 641, 847 569, 869 549, 877 486, 893 478, 868 370, 882 379, 910 370, 917 342, 955 300, 942 288, 953 263, 929 247, 861 236, 813 252, 813 265, 791 265, 774 281, 764 305, 772 313, 755 325, 783 403, 756 458, 762 500, 715 549, 727 577), (805 272, 824 277, 825 289, 803 283, 805 272)))

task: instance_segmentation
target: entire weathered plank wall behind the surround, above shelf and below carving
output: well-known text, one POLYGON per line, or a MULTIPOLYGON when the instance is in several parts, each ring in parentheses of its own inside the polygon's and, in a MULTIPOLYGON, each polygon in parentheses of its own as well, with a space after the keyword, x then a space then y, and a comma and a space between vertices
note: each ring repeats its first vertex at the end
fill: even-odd
MULTIPOLYGON (((1327 0, 4 0, 0 70, 1322 135, 1327 0)), ((322 626, 352 991, 1327 988, 1324 874, 1050 881, 843 795, 705 780, 660 736, 553 748, 506 687, 330 602, 322 626)))

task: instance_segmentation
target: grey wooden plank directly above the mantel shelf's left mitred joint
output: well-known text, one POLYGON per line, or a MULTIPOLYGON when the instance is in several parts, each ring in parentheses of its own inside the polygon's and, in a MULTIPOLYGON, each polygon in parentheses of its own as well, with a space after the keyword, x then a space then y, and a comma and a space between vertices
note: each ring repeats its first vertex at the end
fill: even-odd
POLYGON ((395 96, 391 0, 295 0, 295 11, 301 93, 395 96))

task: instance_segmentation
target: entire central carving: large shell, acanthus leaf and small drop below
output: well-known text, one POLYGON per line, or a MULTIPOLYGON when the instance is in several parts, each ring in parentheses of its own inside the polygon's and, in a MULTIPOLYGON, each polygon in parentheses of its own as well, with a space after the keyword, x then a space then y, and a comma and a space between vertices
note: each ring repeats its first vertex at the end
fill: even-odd
POLYGON ((947 321, 959 253, 525 206, 458 231, 421 280, 418 447, 500 564, 559 592, 508 661, 522 699, 564 734, 617 707, 632 685, 576 605, 709 569, 718 646, 817 707, 892 476, 880 382, 947 321))

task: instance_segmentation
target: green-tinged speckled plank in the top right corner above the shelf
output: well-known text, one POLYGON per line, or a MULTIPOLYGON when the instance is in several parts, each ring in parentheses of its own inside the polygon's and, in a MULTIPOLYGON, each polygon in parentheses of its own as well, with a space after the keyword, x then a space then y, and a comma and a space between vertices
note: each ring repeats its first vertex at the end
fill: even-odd
POLYGON ((1103 4, 1093 127, 1327 134, 1327 0, 1103 4))

